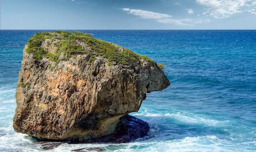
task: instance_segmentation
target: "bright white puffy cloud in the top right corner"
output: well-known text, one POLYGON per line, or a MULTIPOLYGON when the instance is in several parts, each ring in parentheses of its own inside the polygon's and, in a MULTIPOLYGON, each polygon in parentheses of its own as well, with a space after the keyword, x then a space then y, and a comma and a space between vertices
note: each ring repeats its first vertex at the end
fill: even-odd
POLYGON ((211 15, 214 18, 228 18, 235 13, 242 13, 244 7, 256 5, 255 0, 196 0, 204 6, 203 15, 211 15))

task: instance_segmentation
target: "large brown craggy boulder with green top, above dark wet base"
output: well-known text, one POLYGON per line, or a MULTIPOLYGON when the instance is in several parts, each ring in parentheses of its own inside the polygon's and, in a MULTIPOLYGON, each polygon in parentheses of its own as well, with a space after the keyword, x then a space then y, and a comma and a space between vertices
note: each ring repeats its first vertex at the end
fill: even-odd
POLYGON ((169 85, 152 59, 127 48, 81 32, 36 33, 23 51, 13 128, 54 141, 103 137, 169 85))

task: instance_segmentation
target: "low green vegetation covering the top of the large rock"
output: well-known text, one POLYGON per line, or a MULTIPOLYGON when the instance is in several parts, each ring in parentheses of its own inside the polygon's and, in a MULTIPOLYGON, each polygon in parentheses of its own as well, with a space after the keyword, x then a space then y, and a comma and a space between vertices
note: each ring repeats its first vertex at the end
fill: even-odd
POLYGON ((49 59, 54 62, 68 60, 76 54, 85 53, 90 55, 88 64, 92 64, 96 59, 96 56, 102 56, 108 59, 109 66, 113 65, 113 62, 116 62, 117 64, 137 62, 140 64, 140 59, 156 64, 153 59, 150 59, 147 56, 139 55, 128 48, 123 48, 117 44, 99 40, 92 37, 89 33, 80 31, 73 31, 72 33, 68 31, 36 33, 28 40, 28 48, 26 49, 26 52, 33 53, 36 59, 49 57, 49 59), (42 43, 45 40, 47 40, 47 46, 54 44, 56 47, 55 53, 49 53, 43 49, 42 43))

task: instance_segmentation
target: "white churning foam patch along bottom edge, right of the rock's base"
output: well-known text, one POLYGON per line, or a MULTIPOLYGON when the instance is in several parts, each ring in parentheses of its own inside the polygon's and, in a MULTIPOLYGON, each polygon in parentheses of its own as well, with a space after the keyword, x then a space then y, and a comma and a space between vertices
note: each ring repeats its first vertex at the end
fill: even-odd
POLYGON ((234 152, 236 148, 216 136, 186 137, 178 140, 132 142, 102 146, 108 152, 234 152))

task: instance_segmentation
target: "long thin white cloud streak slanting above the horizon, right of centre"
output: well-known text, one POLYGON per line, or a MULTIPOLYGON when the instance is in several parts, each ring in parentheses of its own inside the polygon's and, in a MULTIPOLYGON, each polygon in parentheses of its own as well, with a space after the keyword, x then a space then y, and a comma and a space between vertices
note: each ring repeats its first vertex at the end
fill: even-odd
POLYGON ((190 19, 174 20, 174 19, 171 19, 172 17, 171 15, 155 13, 152 11, 144 11, 140 9, 124 8, 123 11, 128 11, 129 14, 137 15, 137 16, 140 16, 141 18, 154 19, 159 23, 192 26, 191 24, 184 23, 184 22, 191 21, 190 19))

